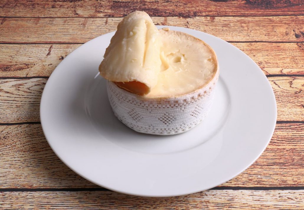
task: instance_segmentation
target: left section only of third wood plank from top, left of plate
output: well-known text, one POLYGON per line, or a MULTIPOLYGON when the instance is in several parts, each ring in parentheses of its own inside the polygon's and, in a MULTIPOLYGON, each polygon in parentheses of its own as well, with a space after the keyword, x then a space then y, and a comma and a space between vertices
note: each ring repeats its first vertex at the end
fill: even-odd
POLYGON ((81 44, 0 45, 0 77, 50 76, 79 46, 81 44))

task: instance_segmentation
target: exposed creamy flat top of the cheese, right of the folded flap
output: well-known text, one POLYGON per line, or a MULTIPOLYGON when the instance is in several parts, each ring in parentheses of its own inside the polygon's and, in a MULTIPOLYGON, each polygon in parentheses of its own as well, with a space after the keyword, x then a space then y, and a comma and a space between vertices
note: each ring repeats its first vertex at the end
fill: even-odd
POLYGON ((191 93, 214 77, 214 51, 200 39, 183 32, 160 29, 161 72, 146 97, 174 97, 191 93))

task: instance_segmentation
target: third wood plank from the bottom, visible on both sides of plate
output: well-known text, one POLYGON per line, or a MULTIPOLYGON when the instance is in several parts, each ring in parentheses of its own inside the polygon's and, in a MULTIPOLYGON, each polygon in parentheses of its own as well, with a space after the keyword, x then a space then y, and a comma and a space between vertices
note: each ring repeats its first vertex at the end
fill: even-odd
MULTIPOLYGON (((278 121, 304 121, 304 77, 269 77, 275 92, 278 121)), ((47 78, 0 80, 0 123, 36 122, 47 78)))

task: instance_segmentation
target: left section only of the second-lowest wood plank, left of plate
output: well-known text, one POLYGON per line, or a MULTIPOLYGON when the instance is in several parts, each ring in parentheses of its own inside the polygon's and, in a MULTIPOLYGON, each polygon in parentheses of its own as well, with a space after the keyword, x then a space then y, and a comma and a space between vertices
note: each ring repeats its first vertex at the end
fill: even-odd
POLYGON ((0 126, 0 139, 0 188, 97 187, 60 161, 40 124, 0 126))

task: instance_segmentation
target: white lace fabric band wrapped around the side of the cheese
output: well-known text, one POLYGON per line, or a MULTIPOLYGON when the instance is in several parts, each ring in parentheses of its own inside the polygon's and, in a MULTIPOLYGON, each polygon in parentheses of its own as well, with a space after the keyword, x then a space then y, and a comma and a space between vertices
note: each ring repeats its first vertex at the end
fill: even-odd
POLYGON ((219 71, 202 88, 178 97, 147 98, 110 81, 107 81, 107 92, 115 116, 126 126, 146 134, 180 134, 207 116, 218 77, 219 71))

